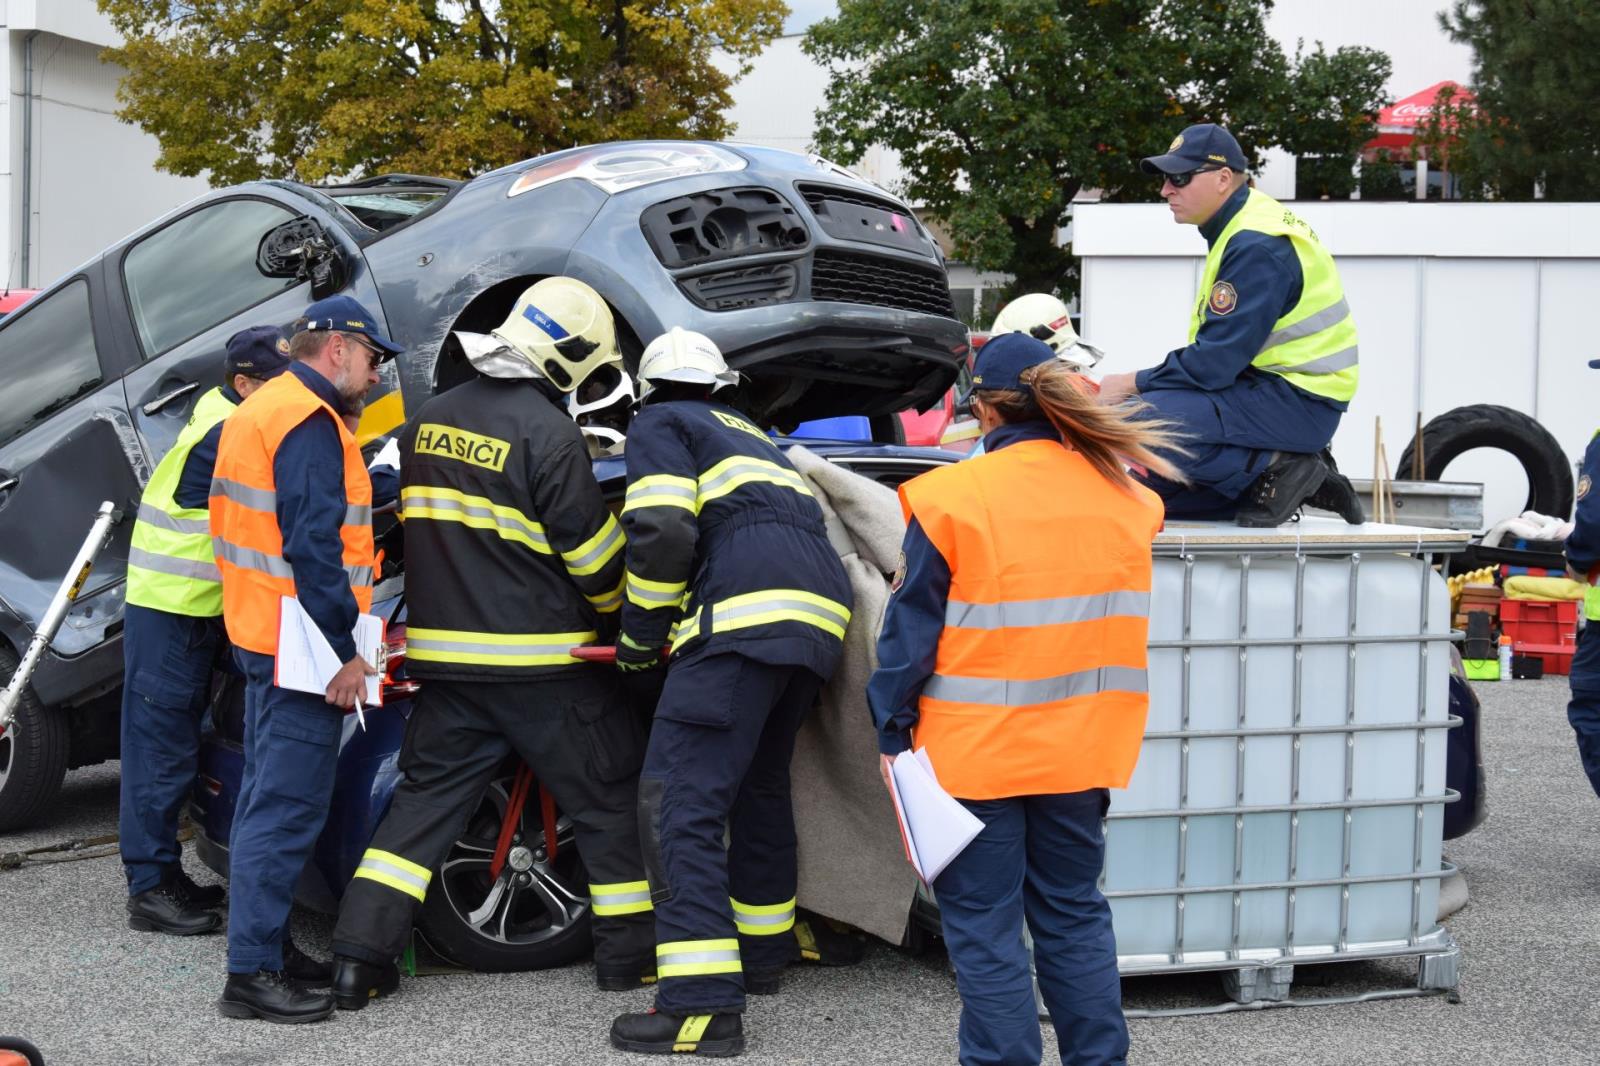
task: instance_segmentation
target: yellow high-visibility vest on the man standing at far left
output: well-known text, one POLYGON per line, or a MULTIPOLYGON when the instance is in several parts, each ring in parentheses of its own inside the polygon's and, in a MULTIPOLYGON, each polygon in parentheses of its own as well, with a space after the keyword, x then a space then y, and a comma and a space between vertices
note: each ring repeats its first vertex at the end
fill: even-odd
POLYGON ((128 546, 130 603, 194 618, 222 613, 222 578, 211 555, 211 515, 200 507, 181 507, 174 495, 189 453, 235 407, 221 389, 202 395, 173 450, 144 487, 128 546))

